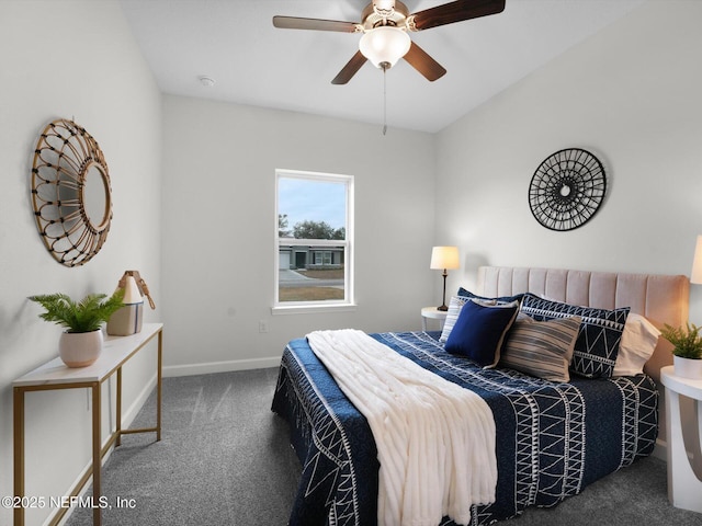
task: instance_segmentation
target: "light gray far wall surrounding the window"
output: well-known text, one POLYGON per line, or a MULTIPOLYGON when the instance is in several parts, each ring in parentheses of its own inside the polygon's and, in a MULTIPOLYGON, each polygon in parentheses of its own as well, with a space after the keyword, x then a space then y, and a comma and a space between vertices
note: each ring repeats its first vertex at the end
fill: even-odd
POLYGON ((315 329, 421 327, 440 279, 431 135, 172 95, 163 114, 167 374, 275 366, 315 329), (354 175, 355 310, 271 313, 276 168, 354 175))

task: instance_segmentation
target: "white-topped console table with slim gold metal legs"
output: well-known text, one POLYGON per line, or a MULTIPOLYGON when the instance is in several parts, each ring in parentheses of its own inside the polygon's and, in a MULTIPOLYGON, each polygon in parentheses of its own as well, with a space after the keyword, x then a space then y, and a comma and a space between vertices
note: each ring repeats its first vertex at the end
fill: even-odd
MULTIPOLYGON (((92 469, 78 481, 70 496, 77 496, 92 474, 93 499, 101 495, 102 458, 112 447, 120 445, 122 435, 127 433, 156 433, 156 439, 161 439, 161 366, 162 366, 162 323, 144 323, 141 331, 129 336, 106 336, 100 357, 88 367, 70 368, 60 358, 27 373, 12 382, 13 387, 13 421, 14 421, 14 496, 22 502, 24 495, 24 393, 27 391, 47 391, 55 389, 88 388, 92 392, 92 469), (141 430, 122 428, 122 366, 158 335, 157 365, 157 404, 156 426, 141 430), (114 373, 117 374, 116 422, 115 431, 102 446, 101 426, 101 386, 114 373)), ((58 510, 52 517, 52 525, 58 524, 66 513, 66 508, 58 510)), ((93 507, 93 525, 100 525, 100 506, 93 507)), ((14 508, 14 526, 24 525, 24 508, 14 508)))

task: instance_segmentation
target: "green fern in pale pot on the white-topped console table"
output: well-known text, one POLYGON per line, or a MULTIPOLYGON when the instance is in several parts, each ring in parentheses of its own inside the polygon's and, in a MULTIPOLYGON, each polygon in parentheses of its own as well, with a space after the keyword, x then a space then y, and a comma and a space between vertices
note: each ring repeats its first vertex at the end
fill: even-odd
POLYGON ((124 289, 106 294, 89 294, 80 301, 65 294, 30 296, 45 312, 39 318, 52 321, 66 330, 58 342, 58 353, 68 367, 86 367, 102 352, 102 324, 123 307, 124 289), (106 299, 105 299, 106 298, 106 299))

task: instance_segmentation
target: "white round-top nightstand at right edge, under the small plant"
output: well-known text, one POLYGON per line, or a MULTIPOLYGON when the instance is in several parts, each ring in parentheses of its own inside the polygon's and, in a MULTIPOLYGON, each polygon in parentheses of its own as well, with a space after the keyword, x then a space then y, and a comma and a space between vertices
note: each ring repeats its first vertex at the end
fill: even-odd
MULTIPOLYGON (((671 365, 660 369, 660 381, 666 386, 666 426, 668 433, 668 500, 676 507, 702 513, 702 472, 700 448, 693 446, 693 458, 688 458, 680 418, 680 395, 697 400, 697 425, 702 435, 702 379, 691 380, 676 376, 671 365), (695 468, 691 466, 693 462, 695 468)), ((701 441, 702 442, 702 438, 701 441)))

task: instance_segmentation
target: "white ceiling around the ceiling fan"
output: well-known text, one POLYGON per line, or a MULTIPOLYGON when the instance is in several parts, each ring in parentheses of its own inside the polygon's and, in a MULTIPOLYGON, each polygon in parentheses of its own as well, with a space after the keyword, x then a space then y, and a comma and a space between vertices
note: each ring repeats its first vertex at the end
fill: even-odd
MULTIPOLYGON (((370 0, 121 0, 165 93, 383 123, 383 72, 331 79, 360 35, 279 30, 275 14, 360 22, 370 0), (202 85, 207 76, 216 82, 202 85)), ((404 0, 410 12, 446 3, 404 0)), ((411 33, 448 73, 387 72, 387 124, 434 133, 644 0, 507 0, 500 14, 411 33)))

